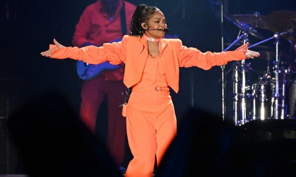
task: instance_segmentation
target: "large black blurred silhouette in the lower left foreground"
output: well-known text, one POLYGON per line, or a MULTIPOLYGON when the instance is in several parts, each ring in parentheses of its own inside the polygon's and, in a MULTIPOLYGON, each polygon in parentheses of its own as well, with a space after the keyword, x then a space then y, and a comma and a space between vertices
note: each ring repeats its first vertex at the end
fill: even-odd
POLYGON ((19 173, 30 176, 121 176, 105 144, 80 122, 56 91, 29 102, 8 122, 20 154, 19 173))

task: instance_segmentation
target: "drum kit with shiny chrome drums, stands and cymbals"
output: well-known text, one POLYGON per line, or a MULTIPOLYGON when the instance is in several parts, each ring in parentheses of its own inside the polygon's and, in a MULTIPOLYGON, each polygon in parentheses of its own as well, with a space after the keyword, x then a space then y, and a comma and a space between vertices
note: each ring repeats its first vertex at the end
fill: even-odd
MULTIPOLYGON (((296 14, 296 12, 288 13, 296 14)), ((271 13, 268 16, 264 16, 260 15, 258 12, 255 12, 254 14, 224 14, 225 18, 227 18, 233 24, 238 26, 240 30, 243 31, 243 34, 240 35, 239 33, 237 39, 233 43, 231 43, 224 51, 228 50, 232 45, 237 44, 241 38, 243 38, 243 41, 245 43, 248 39, 248 34, 251 34, 260 39, 264 39, 263 35, 260 34, 260 32, 258 32, 255 27, 270 29, 269 26, 274 23, 267 22, 267 18, 272 19, 272 15, 274 14, 277 15, 276 13, 271 13)), ((287 22, 287 24, 284 24, 282 26, 284 26, 284 29, 289 30, 279 30, 279 27, 274 25, 274 28, 276 30, 273 30, 273 36, 255 44, 249 45, 248 47, 252 48, 257 45, 260 46, 259 44, 275 38, 275 52, 265 51, 260 53, 262 55, 260 57, 261 59, 267 59, 267 69, 263 75, 260 74, 260 77, 258 77, 258 81, 253 84, 246 84, 246 67, 248 66, 247 63, 244 62, 244 60, 241 62, 235 62, 233 64, 233 119, 236 125, 242 125, 252 119, 283 119, 286 116, 286 106, 284 98, 286 75, 289 73, 289 68, 280 66, 283 64, 282 58, 284 57, 286 59, 289 59, 289 57, 286 57, 284 53, 279 53, 279 37, 288 37, 293 32, 292 28, 295 27, 296 18, 290 19, 291 17, 286 17, 283 15, 278 16, 280 19, 283 19, 284 22, 287 22), (291 23, 291 21, 293 22, 291 23), (281 61, 279 61, 280 58, 281 61), (272 69, 270 69, 269 66, 269 61, 271 59, 275 59, 272 69), (246 110, 248 106, 248 102, 246 99, 248 98, 252 99, 250 117, 247 117, 246 110)), ((281 22, 277 22, 277 24, 281 25, 281 22)))

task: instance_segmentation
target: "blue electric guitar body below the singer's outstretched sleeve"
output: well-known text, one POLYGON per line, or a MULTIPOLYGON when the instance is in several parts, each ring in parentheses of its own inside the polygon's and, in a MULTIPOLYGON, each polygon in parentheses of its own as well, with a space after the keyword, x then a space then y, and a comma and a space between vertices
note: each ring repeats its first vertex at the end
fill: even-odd
MULTIPOLYGON (((118 42, 118 41, 121 41, 121 38, 115 39, 111 41, 111 43, 118 42)), ((101 73, 104 70, 118 69, 119 64, 113 65, 113 64, 110 64, 108 61, 105 61, 100 64, 89 64, 83 61, 77 61, 76 68, 77 68, 77 74, 79 78, 81 78, 82 80, 90 80, 96 77, 99 73, 101 73)))

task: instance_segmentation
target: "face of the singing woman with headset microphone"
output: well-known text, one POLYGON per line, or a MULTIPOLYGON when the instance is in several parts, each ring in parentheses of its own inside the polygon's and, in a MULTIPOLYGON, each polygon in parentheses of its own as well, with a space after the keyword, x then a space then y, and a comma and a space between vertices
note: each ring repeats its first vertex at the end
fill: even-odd
MULTIPOLYGON (((155 11, 151 17, 148 19, 148 25, 146 23, 141 23, 144 29, 149 26, 150 29, 163 29, 167 28, 166 18, 164 13, 161 11, 155 11)), ((153 38, 161 38, 165 36, 164 30, 145 30, 145 35, 153 38)))

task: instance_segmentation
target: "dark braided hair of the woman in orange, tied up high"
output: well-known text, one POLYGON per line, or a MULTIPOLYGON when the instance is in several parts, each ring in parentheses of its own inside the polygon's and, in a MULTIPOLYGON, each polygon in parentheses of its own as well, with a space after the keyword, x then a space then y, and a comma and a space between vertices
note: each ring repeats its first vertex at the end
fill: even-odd
POLYGON ((155 6, 147 6, 145 4, 137 5, 131 17, 129 35, 137 35, 142 37, 144 29, 142 28, 141 23, 144 22, 148 24, 148 19, 155 11, 161 10, 155 6))

